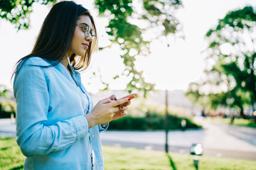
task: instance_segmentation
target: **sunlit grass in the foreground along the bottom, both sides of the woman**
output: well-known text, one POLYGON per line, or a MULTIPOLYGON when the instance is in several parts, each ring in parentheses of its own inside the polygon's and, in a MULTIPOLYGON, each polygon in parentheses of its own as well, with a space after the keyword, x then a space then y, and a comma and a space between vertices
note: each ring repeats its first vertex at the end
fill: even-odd
MULTIPOLYGON (((193 156, 151 150, 103 146, 105 170, 195 170, 193 156)), ((0 137, 0 169, 23 169, 25 157, 14 138, 0 137)), ((215 157, 200 157, 201 170, 255 170, 256 162, 215 157)))

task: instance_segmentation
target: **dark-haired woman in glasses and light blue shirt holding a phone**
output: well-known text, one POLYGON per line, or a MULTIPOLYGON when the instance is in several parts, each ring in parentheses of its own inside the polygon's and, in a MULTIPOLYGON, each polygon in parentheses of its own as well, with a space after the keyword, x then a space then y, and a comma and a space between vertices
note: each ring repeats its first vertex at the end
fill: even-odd
POLYGON ((99 133, 127 115, 137 94, 112 95, 93 107, 75 70, 86 69, 96 47, 90 13, 62 1, 46 16, 31 54, 18 61, 16 133, 24 169, 104 169, 99 133))

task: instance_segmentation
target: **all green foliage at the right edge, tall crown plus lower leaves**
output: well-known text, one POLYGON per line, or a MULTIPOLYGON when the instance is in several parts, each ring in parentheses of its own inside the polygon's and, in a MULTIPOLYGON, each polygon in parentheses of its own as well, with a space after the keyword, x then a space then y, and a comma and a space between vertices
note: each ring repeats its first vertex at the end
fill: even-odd
POLYGON ((219 106, 240 108, 241 115, 243 107, 254 106, 255 28, 256 12, 252 6, 245 6, 228 12, 218 26, 208 30, 207 60, 214 64, 206 69, 207 78, 198 83, 197 91, 201 93, 188 89, 186 95, 193 101, 207 98, 207 105, 214 109, 219 106))

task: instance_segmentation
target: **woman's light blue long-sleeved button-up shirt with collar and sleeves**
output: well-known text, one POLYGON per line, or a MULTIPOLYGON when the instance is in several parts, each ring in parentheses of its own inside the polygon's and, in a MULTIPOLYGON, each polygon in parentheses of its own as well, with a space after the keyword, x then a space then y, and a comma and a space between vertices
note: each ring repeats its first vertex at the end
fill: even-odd
POLYGON ((22 64, 14 79, 14 96, 24 169, 104 169, 100 132, 107 126, 88 128, 84 115, 93 104, 80 74, 72 68, 70 77, 60 63, 43 67, 51 63, 40 57, 22 64))

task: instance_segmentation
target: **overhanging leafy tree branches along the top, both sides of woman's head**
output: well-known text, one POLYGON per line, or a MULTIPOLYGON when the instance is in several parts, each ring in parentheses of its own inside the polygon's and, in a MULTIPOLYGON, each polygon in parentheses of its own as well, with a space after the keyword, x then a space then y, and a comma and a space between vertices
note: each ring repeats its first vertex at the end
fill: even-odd
MULTIPOLYGON (((16 25, 16 28, 29 28, 29 13, 33 11, 33 3, 54 4, 57 0, 1 0, 1 18, 16 25)), ((174 12, 181 6, 181 0, 141 0, 138 1, 142 8, 137 8, 132 0, 95 0, 95 5, 100 16, 110 18, 107 26, 107 34, 111 43, 117 44, 122 51, 122 59, 125 70, 113 79, 118 79, 123 75, 129 78, 127 90, 138 89, 147 91, 154 89, 154 84, 146 82, 142 71, 138 71, 134 62, 136 57, 149 55, 149 45, 154 38, 149 39, 144 36, 146 33, 154 31, 155 38, 165 36, 168 38, 174 35, 179 28, 179 21, 174 16, 174 12), (147 28, 140 28, 140 23, 145 23, 147 28)), ((104 47, 100 47, 102 49, 104 47)), ((106 88, 108 84, 105 84, 106 88)))

